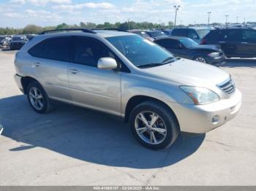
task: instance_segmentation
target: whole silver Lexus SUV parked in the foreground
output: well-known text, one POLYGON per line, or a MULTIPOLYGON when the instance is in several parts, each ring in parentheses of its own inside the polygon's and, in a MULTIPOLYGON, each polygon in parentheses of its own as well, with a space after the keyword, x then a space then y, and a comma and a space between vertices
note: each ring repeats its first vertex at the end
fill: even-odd
POLYGON ((15 56, 15 80, 39 113, 63 101, 123 117, 143 146, 206 133, 235 117, 241 93, 215 66, 175 58, 136 34, 69 29, 35 36, 15 56))

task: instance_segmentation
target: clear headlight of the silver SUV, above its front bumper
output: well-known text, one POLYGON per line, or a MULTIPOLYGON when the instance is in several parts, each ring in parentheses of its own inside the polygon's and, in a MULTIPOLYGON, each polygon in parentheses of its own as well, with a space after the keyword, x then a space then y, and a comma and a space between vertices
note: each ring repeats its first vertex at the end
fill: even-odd
POLYGON ((195 105, 210 104, 215 101, 219 101, 219 95, 214 91, 205 87, 192 87, 192 86, 180 86, 181 90, 184 90, 195 105))

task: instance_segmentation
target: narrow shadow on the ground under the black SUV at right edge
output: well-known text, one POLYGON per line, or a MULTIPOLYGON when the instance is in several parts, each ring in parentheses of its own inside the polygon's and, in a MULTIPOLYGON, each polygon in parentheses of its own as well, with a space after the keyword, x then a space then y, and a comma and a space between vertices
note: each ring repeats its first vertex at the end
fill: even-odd
POLYGON ((236 67, 249 67, 256 68, 255 58, 228 58, 226 64, 222 67, 236 68, 236 67))

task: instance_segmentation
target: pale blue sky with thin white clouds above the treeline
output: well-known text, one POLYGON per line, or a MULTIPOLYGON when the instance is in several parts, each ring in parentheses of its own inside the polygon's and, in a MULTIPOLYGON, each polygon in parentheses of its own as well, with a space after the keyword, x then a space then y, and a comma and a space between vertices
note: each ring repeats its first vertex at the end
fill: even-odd
POLYGON ((256 21, 255 0, 0 0, 0 27, 22 28, 28 24, 116 23, 126 20, 178 24, 256 21))

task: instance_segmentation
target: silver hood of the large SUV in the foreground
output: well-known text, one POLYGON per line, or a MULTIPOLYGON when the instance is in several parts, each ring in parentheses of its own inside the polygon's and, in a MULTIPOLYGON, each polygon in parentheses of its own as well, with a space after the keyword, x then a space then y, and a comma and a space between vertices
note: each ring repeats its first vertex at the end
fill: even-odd
POLYGON ((148 77, 173 82, 176 85, 196 85, 201 87, 207 87, 213 85, 213 83, 218 85, 230 77, 227 72, 216 66, 184 58, 163 66, 141 70, 148 74, 148 77))

